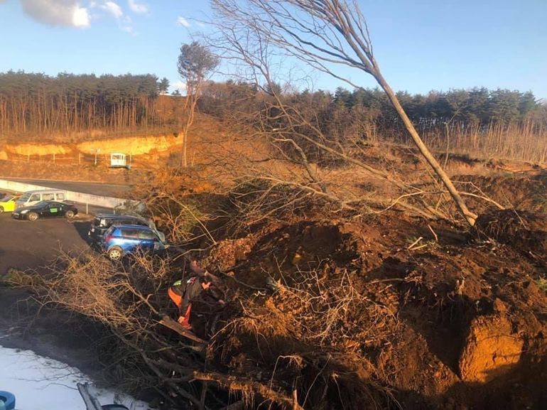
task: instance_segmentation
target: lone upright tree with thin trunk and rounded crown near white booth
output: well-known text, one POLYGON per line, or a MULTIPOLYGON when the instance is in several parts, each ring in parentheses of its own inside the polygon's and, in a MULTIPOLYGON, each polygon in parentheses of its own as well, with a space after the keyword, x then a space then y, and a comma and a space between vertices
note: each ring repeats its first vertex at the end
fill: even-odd
POLYGON ((178 73, 186 83, 185 109, 188 117, 183 125, 183 157, 182 166, 188 166, 188 130, 194 122, 195 107, 200 99, 202 85, 215 70, 219 63, 219 58, 210 52, 210 50, 197 41, 180 46, 180 55, 178 56, 178 73))

